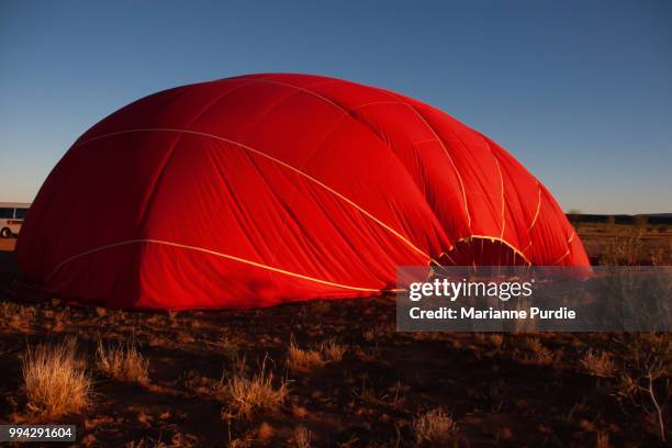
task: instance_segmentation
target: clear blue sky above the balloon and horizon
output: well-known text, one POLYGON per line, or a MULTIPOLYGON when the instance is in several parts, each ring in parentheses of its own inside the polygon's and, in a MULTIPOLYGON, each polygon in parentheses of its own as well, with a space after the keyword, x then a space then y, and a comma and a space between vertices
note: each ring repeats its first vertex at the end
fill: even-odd
POLYGON ((142 96, 331 75, 490 135, 564 210, 672 212, 672 2, 0 0, 0 201, 142 96))

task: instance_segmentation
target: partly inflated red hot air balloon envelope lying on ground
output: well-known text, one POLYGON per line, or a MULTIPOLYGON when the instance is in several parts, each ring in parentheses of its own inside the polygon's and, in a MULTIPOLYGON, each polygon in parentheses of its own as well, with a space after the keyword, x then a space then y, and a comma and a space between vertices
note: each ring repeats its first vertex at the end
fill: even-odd
POLYGON ((378 294, 397 266, 586 266, 506 150, 387 90, 249 75, 143 98, 54 168, 16 247, 48 291, 128 309, 378 294))

